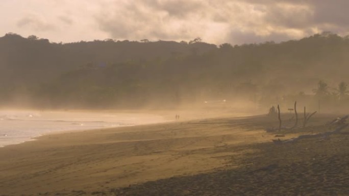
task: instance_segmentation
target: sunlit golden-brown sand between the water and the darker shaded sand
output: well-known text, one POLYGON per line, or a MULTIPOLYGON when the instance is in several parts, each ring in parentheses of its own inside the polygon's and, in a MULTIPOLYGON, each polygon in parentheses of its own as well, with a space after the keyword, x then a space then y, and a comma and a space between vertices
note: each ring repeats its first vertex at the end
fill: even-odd
POLYGON ((263 129, 274 124, 266 116, 231 117, 43 135, 0 148, 0 189, 10 196, 89 195, 237 169, 246 155, 258 152, 249 145, 275 138, 263 129))

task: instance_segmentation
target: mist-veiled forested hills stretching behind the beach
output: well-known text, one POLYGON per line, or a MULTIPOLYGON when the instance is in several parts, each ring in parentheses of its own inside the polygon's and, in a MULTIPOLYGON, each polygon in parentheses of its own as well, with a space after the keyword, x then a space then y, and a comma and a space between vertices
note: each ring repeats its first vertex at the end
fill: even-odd
POLYGON ((349 38, 328 32, 235 46, 201 39, 62 44, 9 33, 0 38, 0 105, 139 108, 225 99, 343 108, 348 54, 349 38))

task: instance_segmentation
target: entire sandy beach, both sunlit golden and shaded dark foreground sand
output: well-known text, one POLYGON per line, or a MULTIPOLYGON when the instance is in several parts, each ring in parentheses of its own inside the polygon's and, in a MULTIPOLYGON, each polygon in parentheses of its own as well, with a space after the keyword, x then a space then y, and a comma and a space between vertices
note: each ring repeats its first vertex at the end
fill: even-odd
MULTIPOLYGON (((281 138, 326 131, 331 119, 281 138)), ((0 195, 349 193, 347 129, 276 146, 272 126, 264 115, 44 135, 0 148, 0 195)))

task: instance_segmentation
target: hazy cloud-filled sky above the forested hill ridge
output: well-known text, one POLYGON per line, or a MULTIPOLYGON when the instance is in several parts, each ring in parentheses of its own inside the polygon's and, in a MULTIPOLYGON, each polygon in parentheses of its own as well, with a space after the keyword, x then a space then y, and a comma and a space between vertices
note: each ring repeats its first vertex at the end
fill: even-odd
POLYGON ((244 44, 349 34, 347 0, 0 0, 0 36, 244 44))

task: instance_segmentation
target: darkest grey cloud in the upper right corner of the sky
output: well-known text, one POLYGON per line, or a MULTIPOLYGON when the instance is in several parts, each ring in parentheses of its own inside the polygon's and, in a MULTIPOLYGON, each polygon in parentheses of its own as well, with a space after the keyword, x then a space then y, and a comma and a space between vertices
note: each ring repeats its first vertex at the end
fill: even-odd
POLYGON ((274 25, 298 29, 317 27, 320 30, 323 28, 328 30, 328 27, 338 30, 338 27, 341 27, 340 29, 344 27, 345 31, 349 27, 347 23, 349 1, 346 0, 245 0, 244 2, 264 6, 265 21, 274 25))

